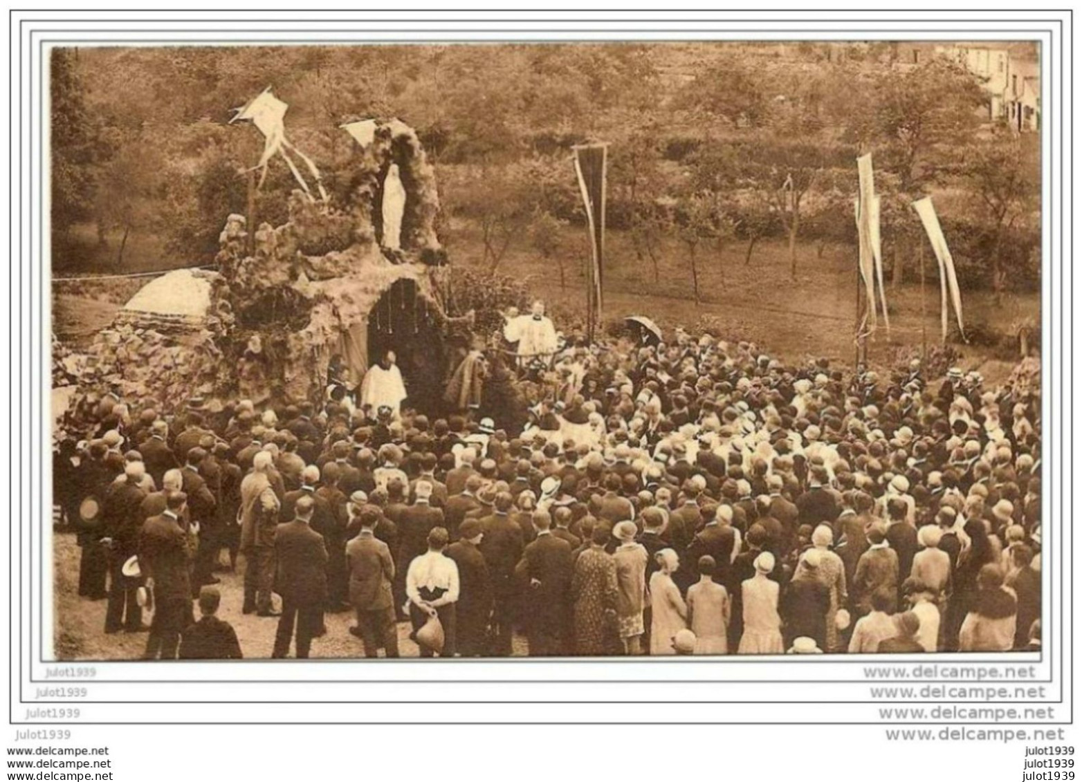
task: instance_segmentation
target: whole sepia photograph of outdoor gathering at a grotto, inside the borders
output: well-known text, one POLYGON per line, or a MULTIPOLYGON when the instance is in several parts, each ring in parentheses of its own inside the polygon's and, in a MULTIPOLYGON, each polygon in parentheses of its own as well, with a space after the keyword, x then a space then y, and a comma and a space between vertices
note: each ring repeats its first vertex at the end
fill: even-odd
POLYGON ((1041 651, 1043 56, 52 45, 52 658, 1041 651))

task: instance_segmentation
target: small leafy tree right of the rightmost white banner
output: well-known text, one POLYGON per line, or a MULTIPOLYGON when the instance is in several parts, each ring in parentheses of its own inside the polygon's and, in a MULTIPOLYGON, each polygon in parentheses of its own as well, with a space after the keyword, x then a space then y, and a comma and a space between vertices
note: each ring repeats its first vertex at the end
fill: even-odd
POLYGON ((991 283, 999 301, 1006 278, 1003 239, 1016 224, 1034 214, 1040 173, 1033 156, 1025 154, 1021 137, 1006 130, 971 144, 963 160, 961 173, 969 183, 976 211, 989 225, 991 283))

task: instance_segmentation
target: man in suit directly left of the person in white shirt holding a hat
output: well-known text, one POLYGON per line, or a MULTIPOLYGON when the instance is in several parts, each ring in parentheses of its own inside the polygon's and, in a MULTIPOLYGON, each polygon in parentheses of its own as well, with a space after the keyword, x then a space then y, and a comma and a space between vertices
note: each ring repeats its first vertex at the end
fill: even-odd
POLYGON ((374 658, 380 647, 388 658, 398 657, 398 631, 391 584, 395 562, 387 544, 375 536, 380 513, 374 505, 358 512, 360 532, 346 544, 349 601, 357 611, 357 626, 349 632, 365 645, 365 657, 374 658))

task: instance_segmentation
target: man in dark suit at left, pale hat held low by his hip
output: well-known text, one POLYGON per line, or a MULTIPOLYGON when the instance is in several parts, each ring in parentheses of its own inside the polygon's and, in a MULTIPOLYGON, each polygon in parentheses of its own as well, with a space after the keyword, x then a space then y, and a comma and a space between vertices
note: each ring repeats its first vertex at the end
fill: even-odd
POLYGON ((124 480, 109 487, 105 495, 103 520, 108 541, 109 604, 105 610, 105 632, 117 633, 121 627, 138 633, 143 627, 143 609, 135 602, 138 579, 129 579, 123 565, 138 551, 138 533, 146 518, 140 512, 146 496, 140 481, 146 475, 142 462, 124 466, 124 480))

